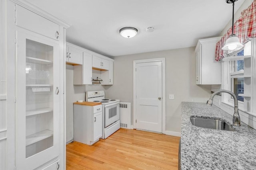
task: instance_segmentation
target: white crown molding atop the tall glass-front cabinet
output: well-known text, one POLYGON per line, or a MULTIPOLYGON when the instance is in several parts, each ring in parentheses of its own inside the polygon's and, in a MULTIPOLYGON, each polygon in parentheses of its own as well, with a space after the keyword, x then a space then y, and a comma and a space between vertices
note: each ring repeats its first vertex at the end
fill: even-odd
POLYGON ((38 8, 37 6, 34 6, 33 4, 31 4, 30 2, 26 1, 26 0, 10 0, 12 2, 14 2, 15 4, 18 4, 44 18, 46 18, 47 20, 50 20, 64 28, 68 28, 70 27, 71 25, 69 23, 67 23, 66 21, 64 20, 61 20, 59 18, 56 18, 55 16, 53 16, 52 14, 49 14, 48 12, 38 8))

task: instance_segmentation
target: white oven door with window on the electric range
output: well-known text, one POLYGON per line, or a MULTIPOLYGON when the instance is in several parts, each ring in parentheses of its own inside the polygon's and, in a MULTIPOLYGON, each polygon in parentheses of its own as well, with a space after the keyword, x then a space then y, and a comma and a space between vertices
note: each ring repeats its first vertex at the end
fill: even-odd
POLYGON ((105 127, 108 127, 119 120, 119 103, 106 104, 105 106, 105 127))

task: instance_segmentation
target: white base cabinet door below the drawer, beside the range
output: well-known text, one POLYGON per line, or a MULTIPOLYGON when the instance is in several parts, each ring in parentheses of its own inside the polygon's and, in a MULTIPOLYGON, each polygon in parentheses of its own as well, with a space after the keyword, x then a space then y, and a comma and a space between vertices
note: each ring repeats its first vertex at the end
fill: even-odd
POLYGON ((102 137, 102 111, 94 113, 93 141, 102 137))

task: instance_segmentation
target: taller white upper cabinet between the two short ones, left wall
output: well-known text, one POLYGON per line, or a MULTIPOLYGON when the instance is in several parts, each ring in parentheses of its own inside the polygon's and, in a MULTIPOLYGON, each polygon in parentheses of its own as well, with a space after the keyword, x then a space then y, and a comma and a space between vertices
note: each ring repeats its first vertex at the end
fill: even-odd
POLYGON ((92 53, 83 51, 83 64, 75 65, 73 74, 75 85, 92 84, 92 53))

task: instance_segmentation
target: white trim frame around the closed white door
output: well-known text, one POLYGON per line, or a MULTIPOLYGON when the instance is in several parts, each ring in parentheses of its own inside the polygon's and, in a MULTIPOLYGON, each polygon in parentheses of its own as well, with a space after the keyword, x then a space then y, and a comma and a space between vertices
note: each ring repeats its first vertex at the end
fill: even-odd
POLYGON ((162 133, 166 134, 166 78, 165 78, 165 58, 156 59, 143 59, 133 61, 133 129, 137 129, 136 124, 136 64, 138 63, 150 63, 150 62, 162 62, 162 133))

